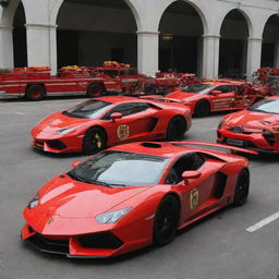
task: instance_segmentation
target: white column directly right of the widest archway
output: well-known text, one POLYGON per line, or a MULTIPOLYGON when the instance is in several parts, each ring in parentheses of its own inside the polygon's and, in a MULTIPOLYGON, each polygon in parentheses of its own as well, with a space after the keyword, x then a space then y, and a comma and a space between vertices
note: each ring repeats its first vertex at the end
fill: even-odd
POLYGON ((141 73, 155 75, 159 61, 159 32, 138 31, 137 68, 141 73))

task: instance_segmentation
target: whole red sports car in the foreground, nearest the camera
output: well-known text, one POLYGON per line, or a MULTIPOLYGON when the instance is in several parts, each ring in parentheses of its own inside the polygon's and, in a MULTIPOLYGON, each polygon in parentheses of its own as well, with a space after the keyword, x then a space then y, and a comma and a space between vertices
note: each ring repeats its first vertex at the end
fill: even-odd
POLYGON ((168 244, 177 230, 229 204, 243 205, 247 159, 201 144, 130 143, 75 161, 26 206, 22 239, 68 257, 110 257, 168 244))

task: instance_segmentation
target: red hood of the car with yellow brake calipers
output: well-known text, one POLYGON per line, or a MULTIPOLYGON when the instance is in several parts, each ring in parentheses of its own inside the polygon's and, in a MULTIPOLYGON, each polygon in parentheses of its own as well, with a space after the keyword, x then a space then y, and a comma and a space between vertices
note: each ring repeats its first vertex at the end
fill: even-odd
POLYGON ((70 118, 60 111, 46 117, 34 128, 34 132, 53 133, 58 130, 75 128, 89 121, 93 120, 83 118, 70 118))

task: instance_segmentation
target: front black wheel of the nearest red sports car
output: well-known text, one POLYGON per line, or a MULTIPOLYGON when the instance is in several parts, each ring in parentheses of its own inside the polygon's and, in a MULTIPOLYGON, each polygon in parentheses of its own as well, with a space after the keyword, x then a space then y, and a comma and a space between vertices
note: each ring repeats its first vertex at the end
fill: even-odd
POLYGON ((157 209, 153 242, 157 246, 163 246, 169 244, 177 234, 179 225, 180 205, 178 199, 172 196, 166 196, 157 209))

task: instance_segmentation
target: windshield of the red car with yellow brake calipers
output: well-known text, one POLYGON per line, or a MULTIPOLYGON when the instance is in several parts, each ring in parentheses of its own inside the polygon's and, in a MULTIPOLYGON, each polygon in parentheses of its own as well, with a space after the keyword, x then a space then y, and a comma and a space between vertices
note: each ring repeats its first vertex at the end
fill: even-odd
POLYGON ((112 106, 112 102, 92 99, 63 111, 63 114, 74 118, 96 119, 112 106))

